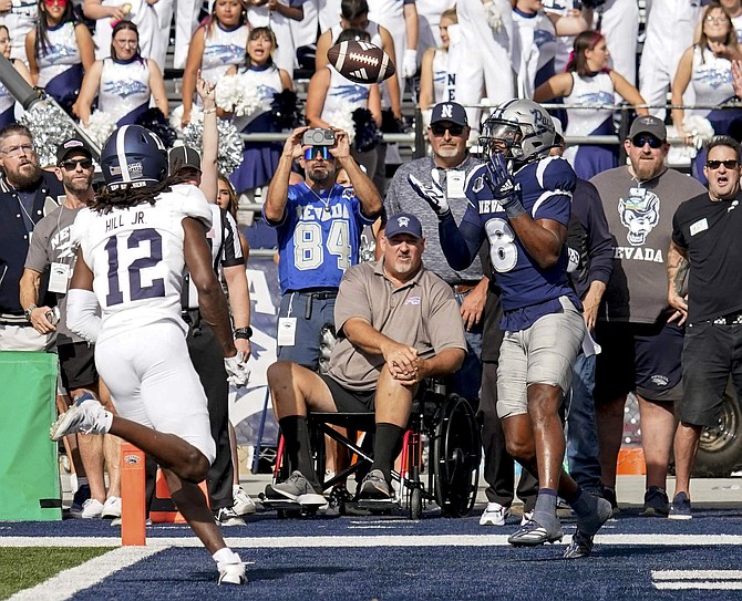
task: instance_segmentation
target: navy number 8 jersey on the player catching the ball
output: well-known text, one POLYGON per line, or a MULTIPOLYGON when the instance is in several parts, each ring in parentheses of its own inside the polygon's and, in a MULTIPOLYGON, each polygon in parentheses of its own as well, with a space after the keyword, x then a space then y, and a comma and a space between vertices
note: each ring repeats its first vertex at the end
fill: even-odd
MULTIPOLYGON (((581 309, 567 278, 566 246, 554 267, 539 267, 511 227, 501 204, 493 199, 484 182, 486 173, 486 165, 481 165, 466 178, 470 205, 458 230, 454 231, 453 219, 441 224, 441 243, 451 267, 462 269, 468 265, 484 237, 488 238, 495 281, 502 290, 501 328, 509 332, 525 330, 537 319, 559 311, 559 297, 568 297, 581 309)), ((567 226, 576 176, 565 159, 546 157, 527 163, 513 177, 521 185, 523 206, 534 220, 553 219, 567 226)))

